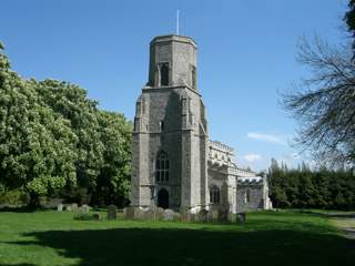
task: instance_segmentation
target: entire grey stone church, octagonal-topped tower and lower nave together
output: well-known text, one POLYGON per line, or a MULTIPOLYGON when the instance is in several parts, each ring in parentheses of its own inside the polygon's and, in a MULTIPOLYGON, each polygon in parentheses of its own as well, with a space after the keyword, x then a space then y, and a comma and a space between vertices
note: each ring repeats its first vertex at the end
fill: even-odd
POLYGON ((135 105, 131 206, 271 208, 266 177, 240 168, 232 147, 209 139, 196 52, 190 37, 150 43, 149 80, 135 105))

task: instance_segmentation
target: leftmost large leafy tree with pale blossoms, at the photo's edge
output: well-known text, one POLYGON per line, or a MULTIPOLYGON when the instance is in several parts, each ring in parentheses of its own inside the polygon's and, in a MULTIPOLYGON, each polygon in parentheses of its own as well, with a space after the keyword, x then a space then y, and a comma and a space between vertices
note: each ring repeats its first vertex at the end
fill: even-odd
POLYGON ((77 182, 77 136, 43 104, 37 85, 12 72, 0 53, 0 184, 48 195, 77 182))

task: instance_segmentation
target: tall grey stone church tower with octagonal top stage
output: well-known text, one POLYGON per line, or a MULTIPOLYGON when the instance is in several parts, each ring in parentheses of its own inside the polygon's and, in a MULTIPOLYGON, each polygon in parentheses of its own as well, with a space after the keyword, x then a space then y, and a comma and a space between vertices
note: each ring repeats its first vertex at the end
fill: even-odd
POLYGON ((207 207, 209 137, 197 90, 196 43, 162 35, 150 43, 149 81, 136 101, 131 205, 207 207))

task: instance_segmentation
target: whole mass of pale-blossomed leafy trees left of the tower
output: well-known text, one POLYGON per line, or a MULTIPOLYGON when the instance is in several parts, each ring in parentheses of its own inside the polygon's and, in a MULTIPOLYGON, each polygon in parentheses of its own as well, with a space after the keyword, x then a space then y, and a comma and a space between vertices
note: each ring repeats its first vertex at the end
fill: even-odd
POLYGON ((99 110, 77 85, 22 79, 2 48, 0 194, 20 190, 32 200, 126 202, 131 123, 122 114, 99 110))

